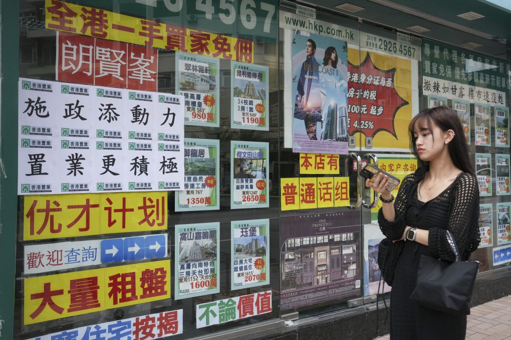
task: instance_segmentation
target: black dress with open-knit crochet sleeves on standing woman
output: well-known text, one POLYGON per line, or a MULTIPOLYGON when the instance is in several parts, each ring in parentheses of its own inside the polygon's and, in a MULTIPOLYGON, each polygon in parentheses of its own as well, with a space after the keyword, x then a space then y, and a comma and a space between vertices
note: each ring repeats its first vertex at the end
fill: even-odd
POLYGON ((453 234, 462 260, 468 259, 477 249, 480 242, 477 180, 468 173, 460 173, 446 190, 424 203, 417 198, 417 184, 423 178, 422 169, 405 177, 394 203, 396 219, 393 222, 383 217, 381 209, 378 214, 380 229, 391 240, 401 239, 406 226, 429 230, 428 246, 400 241, 405 245, 396 265, 390 293, 390 338, 464 339, 466 316, 422 307, 409 297, 415 288, 421 254, 454 261, 445 236, 446 229, 453 234))

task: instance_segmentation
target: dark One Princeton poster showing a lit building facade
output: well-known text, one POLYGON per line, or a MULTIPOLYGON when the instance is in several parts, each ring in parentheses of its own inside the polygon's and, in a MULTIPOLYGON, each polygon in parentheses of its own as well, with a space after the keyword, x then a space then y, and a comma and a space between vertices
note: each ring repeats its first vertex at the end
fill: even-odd
POLYGON ((355 212, 281 217, 281 310, 360 295, 361 246, 355 212))

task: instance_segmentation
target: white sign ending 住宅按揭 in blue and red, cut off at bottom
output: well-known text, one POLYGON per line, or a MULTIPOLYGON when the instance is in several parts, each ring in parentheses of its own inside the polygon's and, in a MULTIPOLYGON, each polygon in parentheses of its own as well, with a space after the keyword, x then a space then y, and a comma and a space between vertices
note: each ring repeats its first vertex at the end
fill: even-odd
POLYGON ((143 315, 136 318, 128 318, 117 321, 104 322, 102 324, 83 326, 57 333, 39 335, 30 340, 55 340, 73 336, 75 339, 87 339, 92 334, 101 334, 104 339, 118 337, 127 339, 153 340, 166 336, 183 333, 183 310, 163 311, 160 313, 143 315), (122 330, 122 332, 120 332, 122 330), (73 334, 73 335, 70 335, 73 334))

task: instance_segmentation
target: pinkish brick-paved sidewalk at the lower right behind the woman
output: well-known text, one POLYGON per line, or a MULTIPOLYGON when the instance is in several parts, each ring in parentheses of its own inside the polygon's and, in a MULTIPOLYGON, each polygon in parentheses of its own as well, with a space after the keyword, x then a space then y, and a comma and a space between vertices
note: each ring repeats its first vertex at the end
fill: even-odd
MULTIPOLYGON (((390 336, 377 337, 389 340, 390 336)), ((466 340, 511 340, 511 295, 472 307, 466 340)))

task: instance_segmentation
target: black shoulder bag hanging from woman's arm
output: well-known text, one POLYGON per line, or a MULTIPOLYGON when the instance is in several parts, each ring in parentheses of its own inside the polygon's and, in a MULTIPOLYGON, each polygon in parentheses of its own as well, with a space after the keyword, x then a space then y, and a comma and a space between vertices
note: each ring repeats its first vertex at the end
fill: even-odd
POLYGON ((449 230, 447 241, 456 255, 453 263, 421 255, 417 271, 417 286, 410 299, 418 304, 446 313, 469 315, 470 298, 479 262, 461 261, 458 247, 449 230))

